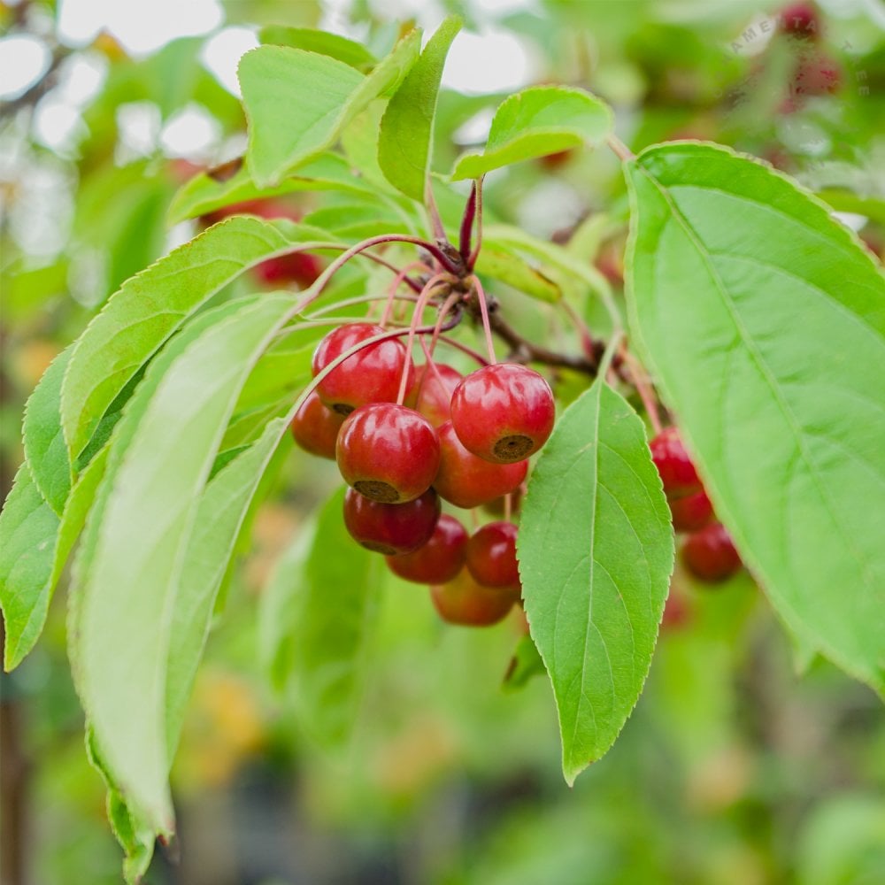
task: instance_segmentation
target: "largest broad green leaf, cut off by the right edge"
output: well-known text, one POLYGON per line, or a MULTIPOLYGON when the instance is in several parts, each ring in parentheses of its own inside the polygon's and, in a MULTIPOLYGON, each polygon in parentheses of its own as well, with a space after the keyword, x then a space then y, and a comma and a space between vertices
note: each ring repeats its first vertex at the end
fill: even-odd
POLYGON ((885 690, 885 278, 785 176, 709 144, 626 165, 633 340, 783 620, 885 690))

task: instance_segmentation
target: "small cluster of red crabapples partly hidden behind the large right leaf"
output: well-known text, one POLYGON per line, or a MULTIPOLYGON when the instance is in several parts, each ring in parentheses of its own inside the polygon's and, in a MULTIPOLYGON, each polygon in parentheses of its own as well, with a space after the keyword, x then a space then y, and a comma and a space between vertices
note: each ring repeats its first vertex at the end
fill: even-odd
POLYGON ((683 565, 700 581, 725 581, 740 569, 741 558, 716 519, 679 431, 666 427, 651 440, 650 448, 670 504, 673 528, 687 535, 681 546, 683 565))

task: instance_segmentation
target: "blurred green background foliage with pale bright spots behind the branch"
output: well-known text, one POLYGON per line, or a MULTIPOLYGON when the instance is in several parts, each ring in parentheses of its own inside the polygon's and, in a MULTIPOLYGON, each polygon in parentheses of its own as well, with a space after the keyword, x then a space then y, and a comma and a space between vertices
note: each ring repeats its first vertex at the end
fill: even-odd
MULTIPOLYGON (((129 4, 114 5, 125 20, 129 4)), ((689 137, 766 158, 881 254, 875 0, 822 4, 819 30, 793 38, 765 0, 212 0, 214 19, 187 35, 197 5, 179 4, 178 22, 160 4, 169 34, 145 50, 111 24, 83 36, 73 2, 0 4, 0 55, 24 40, 42 58, 6 90, 0 120, 4 494, 43 369, 121 281, 196 233, 195 222, 167 225, 178 186, 242 152, 231 74, 268 24, 331 27, 383 53, 404 20, 432 29, 458 12, 468 30, 444 82, 485 92, 443 90, 440 170, 483 140, 504 95, 565 82, 610 101, 634 150, 689 137)), ((486 193, 498 218, 571 240, 620 287, 627 207, 607 151, 518 165, 490 176, 486 193)), ((357 218, 353 195, 298 195, 289 208, 342 200, 357 218)), ((321 753, 292 698, 259 673, 256 612, 280 551, 335 481, 334 468, 290 454, 258 512, 173 771, 180 845, 158 852, 153 885, 885 881, 881 704, 790 648, 746 575, 717 589, 675 575, 643 697, 574 789, 559 773, 546 681, 501 689, 519 624, 443 627, 422 590, 386 577, 358 733, 346 758, 321 753)), ((64 594, 38 648, 2 680, 4 883, 119 881, 68 673, 64 594)))

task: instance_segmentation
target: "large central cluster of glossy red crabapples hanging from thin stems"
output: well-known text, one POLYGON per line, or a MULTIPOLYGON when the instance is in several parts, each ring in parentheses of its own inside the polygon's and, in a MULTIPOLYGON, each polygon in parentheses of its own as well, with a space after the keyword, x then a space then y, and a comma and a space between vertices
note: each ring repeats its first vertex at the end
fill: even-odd
POLYGON ((319 342, 316 387, 292 434, 304 450, 337 462, 355 541, 383 554, 399 577, 429 586, 443 620, 494 624, 521 596, 517 527, 503 519, 471 534, 441 502, 473 509, 520 489, 527 459, 553 429, 550 386, 516 363, 466 376, 434 359, 415 366, 396 337, 328 369, 379 335, 381 326, 355 322, 319 342))

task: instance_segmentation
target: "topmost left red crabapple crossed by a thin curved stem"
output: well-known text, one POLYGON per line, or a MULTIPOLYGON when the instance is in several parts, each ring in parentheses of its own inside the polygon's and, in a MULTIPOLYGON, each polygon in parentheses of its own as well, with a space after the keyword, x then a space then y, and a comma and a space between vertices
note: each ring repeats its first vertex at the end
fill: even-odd
MULTIPOLYGON (((372 323, 346 323, 334 329, 313 353, 313 377, 355 344, 383 332, 372 323)), ((319 382, 317 393, 328 408, 342 415, 369 403, 395 403, 404 366, 413 371, 412 357, 403 342, 389 338, 358 350, 335 366, 319 382)))

